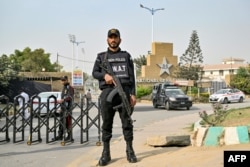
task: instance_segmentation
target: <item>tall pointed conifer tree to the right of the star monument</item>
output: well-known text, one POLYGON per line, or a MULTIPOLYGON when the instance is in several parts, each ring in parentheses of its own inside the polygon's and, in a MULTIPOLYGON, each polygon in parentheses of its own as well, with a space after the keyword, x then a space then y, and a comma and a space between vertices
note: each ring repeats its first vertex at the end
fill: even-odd
POLYGON ((200 49, 199 37, 197 31, 193 31, 189 46, 185 53, 180 57, 179 68, 175 74, 177 78, 184 78, 186 80, 201 79, 203 56, 200 49))

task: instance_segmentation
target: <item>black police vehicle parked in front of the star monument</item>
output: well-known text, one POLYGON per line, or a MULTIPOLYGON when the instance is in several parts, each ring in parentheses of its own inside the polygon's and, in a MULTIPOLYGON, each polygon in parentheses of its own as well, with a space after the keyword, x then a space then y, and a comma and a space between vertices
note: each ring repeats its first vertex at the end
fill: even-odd
POLYGON ((152 102, 154 108, 164 106, 166 110, 192 107, 191 97, 172 83, 158 83, 153 87, 152 102))

